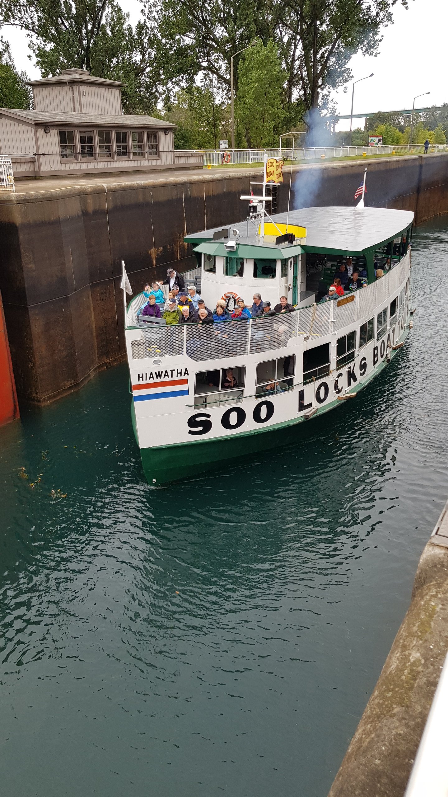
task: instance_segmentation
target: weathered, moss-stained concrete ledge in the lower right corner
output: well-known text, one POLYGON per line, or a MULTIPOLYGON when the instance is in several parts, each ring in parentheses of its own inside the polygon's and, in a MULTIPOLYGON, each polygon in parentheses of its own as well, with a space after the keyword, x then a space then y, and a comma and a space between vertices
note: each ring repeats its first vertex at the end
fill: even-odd
POLYGON ((411 606, 328 797, 406 791, 448 650, 448 515, 444 524, 422 553, 411 606))

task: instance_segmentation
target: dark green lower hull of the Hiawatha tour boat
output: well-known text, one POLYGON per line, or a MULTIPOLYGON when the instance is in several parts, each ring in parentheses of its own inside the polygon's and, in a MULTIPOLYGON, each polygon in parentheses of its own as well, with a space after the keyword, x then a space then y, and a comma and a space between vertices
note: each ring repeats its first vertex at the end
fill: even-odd
MULTIPOLYGON (((403 340, 406 339, 408 332, 409 329, 406 328, 405 332, 403 332, 403 340)), ((391 359, 399 351, 400 349, 391 351, 391 359)), ((371 380, 380 371, 383 371, 387 364, 387 360, 384 358, 365 382, 353 387, 349 393, 356 394, 363 390, 364 387, 367 387, 371 380)), ((309 420, 318 418, 325 412, 332 410, 336 405, 340 405, 340 401, 337 398, 325 406, 318 407, 316 413, 309 420)), ((132 426, 134 427, 134 434, 138 444, 134 402, 132 402, 131 414, 132 426)), ((191 478, 198 473, 210 470, 210 465, 216 467, 222 461, 235 461, 243 455, 247 456, 248 453, 257 453, 258 451, 274 448, 279 444, 285 445, 285 443, 291 441, 291 427, 296 427, 304 421, 305 418, 301 416, 301 418, 291 418, 289 421, 273 424, 273 426, 268 426, 265 429, 226 434, 224 437, 213 438, 213 440, 189 440, 184 443, 176 443, 175 446, 156 446, 155 448, 140 449, 143 471, 150 485, 163 485, 170 481, 191 478), (231 450, 227 446, 229 442, 232 444, 231 450), (185 464, 183 464, 184 458, 185 464)))

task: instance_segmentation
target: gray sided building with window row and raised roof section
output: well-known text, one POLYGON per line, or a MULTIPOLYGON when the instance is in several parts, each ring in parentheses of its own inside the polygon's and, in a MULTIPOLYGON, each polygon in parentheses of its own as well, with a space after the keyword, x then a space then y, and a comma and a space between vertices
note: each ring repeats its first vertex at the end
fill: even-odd
POLYGON ((123 113, 124 83, 64 69, 30 85, 33 111, 0 108, 0 155, 15 179, 202 166, 202 155, 175 151, 175 124, 123 113))

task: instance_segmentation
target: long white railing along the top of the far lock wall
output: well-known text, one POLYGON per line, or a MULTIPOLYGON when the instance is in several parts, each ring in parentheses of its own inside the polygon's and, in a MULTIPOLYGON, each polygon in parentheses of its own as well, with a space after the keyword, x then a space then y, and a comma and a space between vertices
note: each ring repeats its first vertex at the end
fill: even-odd
MULTIPOLYGON (((384 144, 381 147, 290 147, 277 149, 246 150, 195 150, 204 156, 204 166, 235 166, 238 163, 262 163, 265 155, 269 158, 281 157, 294 162, 307 160, 325 160, 329 158, 352 158, 369 155, 422 155, 423 144, 384 144)), ((448 144, 430 144, 430 152, 446 152, 448 144)))

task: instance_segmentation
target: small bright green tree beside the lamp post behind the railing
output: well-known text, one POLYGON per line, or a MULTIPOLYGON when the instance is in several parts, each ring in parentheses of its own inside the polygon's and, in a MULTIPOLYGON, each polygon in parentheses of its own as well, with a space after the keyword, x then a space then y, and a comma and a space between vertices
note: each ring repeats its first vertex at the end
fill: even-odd
POLYGON ((238 65, 236 116, 248 147, 272 147, 277 143, 284 84, 285 73, 272 39, 266 47, 258 41, 246 51, 238 65))

